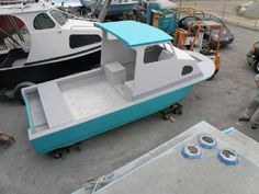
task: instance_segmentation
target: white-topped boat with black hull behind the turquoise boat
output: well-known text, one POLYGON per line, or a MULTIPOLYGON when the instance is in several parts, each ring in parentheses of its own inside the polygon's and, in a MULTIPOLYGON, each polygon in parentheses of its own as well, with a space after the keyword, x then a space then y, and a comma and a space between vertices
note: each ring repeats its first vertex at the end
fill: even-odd
POLYGON ((100 62, 101 31, 50 2, 2 5, 0 21, 0 90, 20 94, 23 87, 100 62))

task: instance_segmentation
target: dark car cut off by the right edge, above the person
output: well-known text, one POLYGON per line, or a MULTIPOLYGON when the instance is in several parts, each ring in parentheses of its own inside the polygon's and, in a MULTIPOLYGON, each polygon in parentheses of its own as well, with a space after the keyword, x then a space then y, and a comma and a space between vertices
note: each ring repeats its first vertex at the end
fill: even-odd
POLYGON ((247 61, 254 68, 256 73, 259 73, 259 42, 251 46, 251 49, 247 54, 247 61))

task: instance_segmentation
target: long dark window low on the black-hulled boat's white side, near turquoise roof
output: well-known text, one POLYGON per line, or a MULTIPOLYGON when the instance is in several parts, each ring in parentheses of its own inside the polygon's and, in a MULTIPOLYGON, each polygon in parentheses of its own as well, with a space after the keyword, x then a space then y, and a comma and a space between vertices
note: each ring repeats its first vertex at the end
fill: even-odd
POLYGON ((70 35, 69 37, 69 46, 70 48, 78 48, 81 46, 87 46, 95 43, 100 43, 102 41, 99 35, 70 35))

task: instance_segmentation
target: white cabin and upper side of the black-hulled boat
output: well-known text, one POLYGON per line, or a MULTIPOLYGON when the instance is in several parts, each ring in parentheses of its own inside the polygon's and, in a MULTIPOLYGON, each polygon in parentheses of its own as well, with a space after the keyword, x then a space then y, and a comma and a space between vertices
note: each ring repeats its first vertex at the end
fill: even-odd
MULTIPOLYGON (((0 24, 0 55, 4 54, 4 50, 7 53, 16 47, 22 48, 29 55, 24 62, 19 62, 19 67, 64 61, 100 50, 101 31, 93 26, 92 21, 71 18, 56 9, 50 2, 0 7, 0 20, 4 21, 10 18, 24 23, 24 28, 27 31, 26 37, 25 41, 15 38, 14 45, 9 44, 10 38, 14 36, 12 34, 4 36, 1 33, 4 31, 2 22, 0 24)), ((0 70, 12 68, 12 64, 3 66, 4 64, 0 70)))

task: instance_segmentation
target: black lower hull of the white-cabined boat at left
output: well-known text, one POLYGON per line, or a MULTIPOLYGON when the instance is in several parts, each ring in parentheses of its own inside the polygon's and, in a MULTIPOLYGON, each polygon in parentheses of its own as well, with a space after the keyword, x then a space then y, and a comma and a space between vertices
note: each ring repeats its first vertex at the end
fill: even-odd
POLYGON ((30 81, 41 83, 72 73, 90 70, 100 64, 101 52, 94 52, 59 61, 25 64, 21 68, 0 69, 0 90, 14 89, 19 83, 30 81), (12 79, 10 79, 12 78, 12 79))

